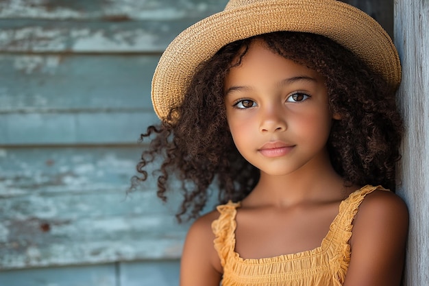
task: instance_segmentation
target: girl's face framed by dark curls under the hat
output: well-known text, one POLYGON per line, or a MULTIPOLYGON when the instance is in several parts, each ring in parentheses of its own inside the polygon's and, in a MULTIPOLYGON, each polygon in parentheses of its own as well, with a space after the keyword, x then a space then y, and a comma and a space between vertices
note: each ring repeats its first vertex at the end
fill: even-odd
POLYGON ((271 175, 326 167, 332 113, 319 73, 255 40, 225 78, 228 126, 241 155, 271 175))

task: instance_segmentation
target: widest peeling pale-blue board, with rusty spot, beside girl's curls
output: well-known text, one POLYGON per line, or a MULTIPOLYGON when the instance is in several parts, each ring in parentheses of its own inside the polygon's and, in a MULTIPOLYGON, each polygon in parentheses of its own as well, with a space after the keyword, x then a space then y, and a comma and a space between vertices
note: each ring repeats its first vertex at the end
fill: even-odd
MULTIPOLYGON (((188 224, 154 181, 126 194, 140 148, 0 150, 0 269, 177 259, 188 224)), ((172 186, 174 188, 174 186, 172 186)))

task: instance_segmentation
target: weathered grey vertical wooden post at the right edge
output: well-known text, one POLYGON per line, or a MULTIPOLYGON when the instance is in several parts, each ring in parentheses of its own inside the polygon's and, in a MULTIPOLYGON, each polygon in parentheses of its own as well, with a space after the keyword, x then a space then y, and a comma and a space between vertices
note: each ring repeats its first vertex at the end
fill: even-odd
POLYGON ((429 285, 429 2, 395 1, 395 44, 402 60, 398 99, 406 134, 399 193, 410 212, 405 285, 429 285))

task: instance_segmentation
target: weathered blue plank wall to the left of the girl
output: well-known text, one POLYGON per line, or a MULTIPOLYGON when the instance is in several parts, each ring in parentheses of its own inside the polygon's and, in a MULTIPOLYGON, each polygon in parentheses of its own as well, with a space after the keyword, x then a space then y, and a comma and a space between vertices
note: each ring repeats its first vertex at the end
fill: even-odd
POLYGON ((188 224, 125 192, 160 54, 225 3, 0 1, 0 285, 177 285, 188 224))

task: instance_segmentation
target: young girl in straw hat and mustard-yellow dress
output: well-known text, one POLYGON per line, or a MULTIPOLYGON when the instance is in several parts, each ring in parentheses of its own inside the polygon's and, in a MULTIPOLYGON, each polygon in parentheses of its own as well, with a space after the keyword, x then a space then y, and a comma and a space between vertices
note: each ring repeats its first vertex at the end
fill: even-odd
POLYGON ((213 184, 221 204, 191 226, 180 285, 400 285, 400 76, 382 27, 334 0, 231 0, 177 36, 139 180, 162 154, 158 196, 182 192, 179 219, 213 184))

